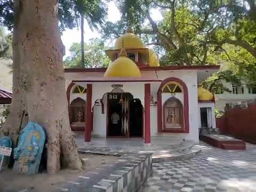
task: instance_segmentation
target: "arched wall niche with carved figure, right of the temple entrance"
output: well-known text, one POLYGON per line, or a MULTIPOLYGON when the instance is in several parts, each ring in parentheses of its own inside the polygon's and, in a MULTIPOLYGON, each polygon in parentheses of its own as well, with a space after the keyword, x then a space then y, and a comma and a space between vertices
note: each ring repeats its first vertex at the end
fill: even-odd
POLYGON ((175 130, 183 127, 183 106, 179 99, 169 98, 163 107, 164 130, 175 130))

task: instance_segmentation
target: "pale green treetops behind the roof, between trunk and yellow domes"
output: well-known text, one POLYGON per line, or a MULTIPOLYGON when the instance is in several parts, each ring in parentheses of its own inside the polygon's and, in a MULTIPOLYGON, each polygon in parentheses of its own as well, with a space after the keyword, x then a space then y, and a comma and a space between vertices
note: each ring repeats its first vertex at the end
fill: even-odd
POLYGON ((84 44, 85 65, 81 62, 81 44, 73 43, 69 49, 70 56, 64 61, 66 68, 97 68, 107 67, 111 62, 105 54, 107 47, 98 38, 91 39, 88 44, 84 44))

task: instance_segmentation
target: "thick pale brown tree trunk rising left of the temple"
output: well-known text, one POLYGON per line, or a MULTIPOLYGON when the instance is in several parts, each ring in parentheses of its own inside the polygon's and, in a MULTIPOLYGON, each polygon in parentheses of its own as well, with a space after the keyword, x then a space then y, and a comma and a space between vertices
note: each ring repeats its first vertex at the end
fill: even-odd
POLYGON ((13 101, 4 127, 18 132, 24 117, 41 124, 47 135, 47 172, 58 172, 60 165, 81 169, 69 125, 58 1, 15 0, 14 10, 13 101))

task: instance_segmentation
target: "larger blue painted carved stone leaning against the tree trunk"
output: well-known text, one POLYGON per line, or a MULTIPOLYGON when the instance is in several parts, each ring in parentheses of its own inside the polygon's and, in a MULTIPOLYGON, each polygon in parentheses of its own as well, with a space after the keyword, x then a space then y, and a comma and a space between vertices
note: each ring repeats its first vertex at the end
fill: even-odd
POLYGON ((45 143, 45 132, 37 123, 28 122, 21 130, 18 147, 14 149, 13 170, 20 173, 35 174, 39 164, 45 143))

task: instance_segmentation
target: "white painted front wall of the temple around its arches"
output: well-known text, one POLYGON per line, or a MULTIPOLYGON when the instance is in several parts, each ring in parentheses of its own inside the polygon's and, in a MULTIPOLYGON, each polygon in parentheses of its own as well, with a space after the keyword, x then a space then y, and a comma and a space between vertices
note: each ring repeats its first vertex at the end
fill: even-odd
MULTIPOLYGON (((194 140, 196 142, 198 139, 198 127, 199 127, 199 117, 198 117, 198 100, 197 100, 197 71, 196 70, 176 70, 176 71, 141 71, 143 77, 150 78, 158 78, 165 79, 169 77, 176 77, 181 79, 188 87, 188 97, 189 97, 189 133, 161 133, 161 135, 178 137, 179 139, 186 140, 194 140)), ((72 80, 83 80, 85 75, 88 76, 103 76, 103 73, 68 73, 66 80, 66 87, 71 83, 72 80)), ((150 82, 148 82, 150 83, 150 82)), ((92 106, 94 105, 95 100, 102 99, 103 94, 107 92, 111 92, 114 88, 111 87, 113 84, 122 84, 122 89, 124 92, 130 92, 134 98, 138 98, 141 100, 142 106, 144 106, 144 85, 145 83, 140 82, 99 82, 93 83, 92 85, 92 106)), ((151 84, 151 95, 154 97, 154 101, 157 101, 157 90, 160 85, 159 83, 152 82, 151 84)), ((78 95, 81 97, 81 94, 78 95)), ((86 94, 83 95, 86 100, 86 94)), ((164 102, 172 97, 172 95, 168 95, 167 93, 162 94, 162 105, 164 102)), ((183 103, 182 94, 177 93, 175 95, 180 101, 183 103)), ((75 95, 73 98, 70 97, 70 101, 75 99, 75 95)), ((84 99, 84 98, 83 98, 84 99)), ((106 137, 106 118, 107 118, 107 99, 103 99, 104 103, 104 114, 101 113, 101 106, 94 107, 94 115, 93 115, 93 134, 99 135, 101 137, 106 137)), ((159 135, 157 133, 157 107, 151 106, 151 135, 156 136, 159 135)), ((162 110, 163 111, 163 110, 162 110)), ((215 122, 215 121, 214 121, 215 122)))

